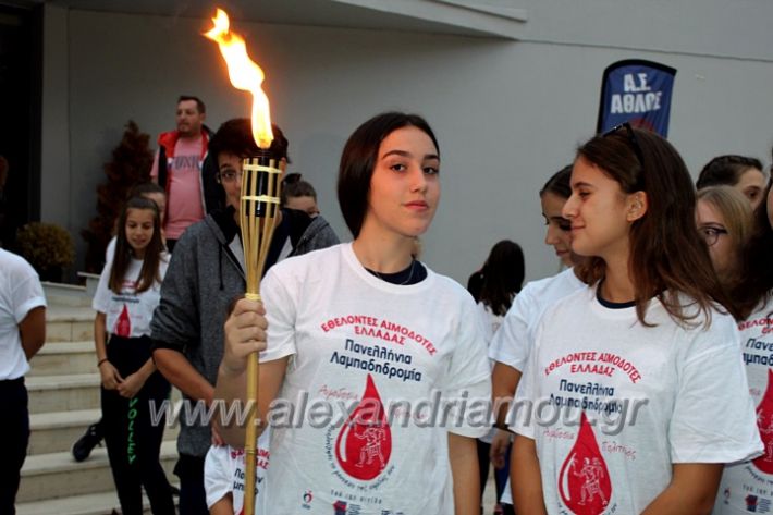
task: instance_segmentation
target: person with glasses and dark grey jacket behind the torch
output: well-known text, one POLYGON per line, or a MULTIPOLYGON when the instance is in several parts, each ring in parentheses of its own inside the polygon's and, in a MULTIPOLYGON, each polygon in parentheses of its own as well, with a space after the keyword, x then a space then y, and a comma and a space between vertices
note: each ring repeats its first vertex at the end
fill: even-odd
MULTIPOLYGON (((269 156, 289 162, 289 142, 277 125, 269 156)), ((261 150, 253 137, 247 119, 233 119, 218 128, 209 143, 209 158, 216 165, 222 209, 191 225, 180 237, 175 258, 170 261, 161 299, 151 321, 154 360, 159 370, 179 388, 189 406, 210 405, 218 366, 223 354, 223 320, 233 299, 244 293, 244 253, 240 235, 242 161, 261 150)), ((322 217, 286 211, 274 230, 267 267, 338 243, 338 236, 322 217)), ((212 442, 220 443, 207 420, 182 417, 175 474, 180 477, 180 512, 206 513, 206 456, 212 442)), ((230 469, 230 454, 212 447, 230 469)), ((242 469, 240 469, 242 473, 242 469)), ((225 481, 233 487, 231 477, 225 481)), ((217 482, 217 481, 216 481, 217 482)), ((218 483, 220 485, 220 483, 218 483)), ((236 483, 238 485, 238 483, 236 483)), ((222 499, 216 489, 210 504, 222 499), (220 496, 218 496, 218 494, 220 496)), ((236 498, 233 498, 236 502, 236 498)))

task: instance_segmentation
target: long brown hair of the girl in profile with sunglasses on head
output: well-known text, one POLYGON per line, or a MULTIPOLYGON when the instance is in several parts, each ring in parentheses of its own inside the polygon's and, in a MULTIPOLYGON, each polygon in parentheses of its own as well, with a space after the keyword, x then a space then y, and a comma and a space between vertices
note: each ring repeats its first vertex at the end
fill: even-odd
MULTIPOLYGON (((715 303, 736 315, 696 228, 696 191, 682 157, 654 133, 624 128, 592 137, 577 155, 616 181, 624 193, 647 194, 647 212, 633 222, 629 233, 628 270, 639 321, 649 326, 645 315, 652 297, 680 324, 692 324, 701 314, 710 323, 715 303), (682 295, 699 309, 686 312, 682 295)), ((606 265, 591 257, 578 268, 580 279, 592 284, 604 278, 606 265)))

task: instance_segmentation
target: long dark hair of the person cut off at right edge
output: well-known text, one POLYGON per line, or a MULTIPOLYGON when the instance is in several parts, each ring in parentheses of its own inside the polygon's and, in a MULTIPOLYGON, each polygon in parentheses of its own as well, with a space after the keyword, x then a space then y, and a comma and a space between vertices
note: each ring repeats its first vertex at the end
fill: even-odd
MULTIPOLYGON (((766 199, 771 183, 765 187, 762 198, 766 199)), ((768 216, 768 203, 764 200, 754 210, 754 232, 741 253, 740 278, 731 292, 733 302, 738 306, 738 320, 745 320, 757 305, 771 297, 773 291, 773 229, 768 216)))

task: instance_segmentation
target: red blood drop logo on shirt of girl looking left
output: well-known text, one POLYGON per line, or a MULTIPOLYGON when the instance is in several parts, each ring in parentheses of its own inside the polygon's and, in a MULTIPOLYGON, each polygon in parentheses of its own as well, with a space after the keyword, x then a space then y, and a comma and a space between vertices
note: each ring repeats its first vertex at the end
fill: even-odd
POLYGON ((566 507, 577 515, 599 515, 610 503, 610 471, 585 412, 577 440, 561 466, 559 492, 566 507))

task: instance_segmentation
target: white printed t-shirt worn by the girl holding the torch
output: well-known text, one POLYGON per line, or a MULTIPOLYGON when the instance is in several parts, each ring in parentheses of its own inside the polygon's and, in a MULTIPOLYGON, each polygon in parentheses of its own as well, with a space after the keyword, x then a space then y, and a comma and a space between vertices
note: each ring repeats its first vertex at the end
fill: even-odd
POLYGON ((429 269, 417 284, 387 283, 342 244, 273 266, 261 295, 261 361, 291 356, 278 398, 294 412, 293 427, 290 407, 270 420, 267 514, 454 513, 447 433, 490 427, 471 408, 442 424, 444 401, 489 406, 469 294, 429 269))

